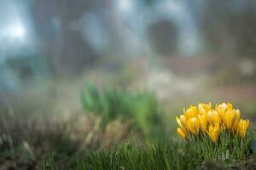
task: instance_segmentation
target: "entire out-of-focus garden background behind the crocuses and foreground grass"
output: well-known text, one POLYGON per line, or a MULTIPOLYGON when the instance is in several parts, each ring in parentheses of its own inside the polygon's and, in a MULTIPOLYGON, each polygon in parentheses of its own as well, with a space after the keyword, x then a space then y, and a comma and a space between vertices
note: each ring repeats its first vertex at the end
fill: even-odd
POLYGON ((1 0, 0 148, 175 139, 198 102, 253 121, 255 30, 252 0, 1 0))

